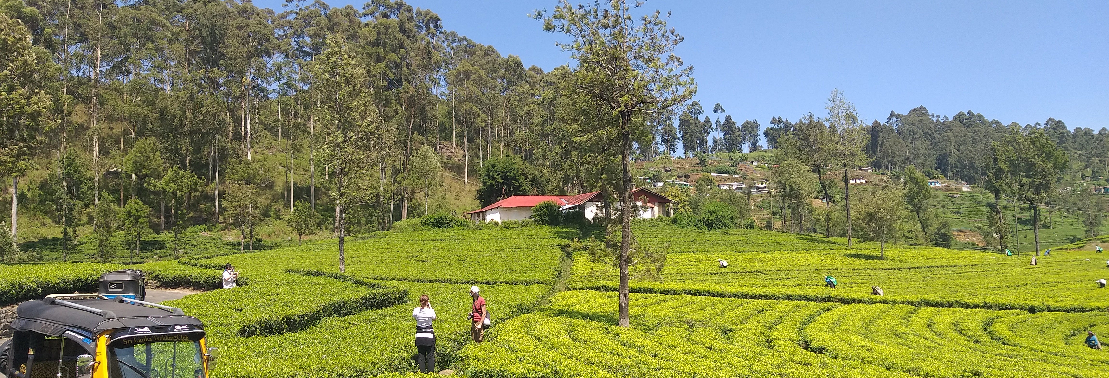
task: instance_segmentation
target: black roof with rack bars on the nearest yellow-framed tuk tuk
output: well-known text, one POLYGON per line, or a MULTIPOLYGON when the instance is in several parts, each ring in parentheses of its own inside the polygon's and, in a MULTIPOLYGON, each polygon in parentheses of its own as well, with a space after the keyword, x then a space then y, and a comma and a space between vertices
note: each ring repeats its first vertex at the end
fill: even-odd
POLYGON ((51 299, 24 302, 16 308, 12 329, 35 330, 43 334, 60 334, 57 328, 79 328, 92 335, 108 329, 161 326, 191 326, 203 329, 203 323, 192 316, 174 315, 155 307, 147 307, 115 299, 73 299, 70 304, 111 311, 104 316, 84 309, 51 304, 51 299))

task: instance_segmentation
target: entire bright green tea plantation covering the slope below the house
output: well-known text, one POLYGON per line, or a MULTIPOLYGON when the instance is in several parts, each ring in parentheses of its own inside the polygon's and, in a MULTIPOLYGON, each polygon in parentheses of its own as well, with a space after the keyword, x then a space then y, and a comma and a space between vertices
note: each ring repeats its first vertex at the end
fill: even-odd
MULTIPOLYGON (((164 286, 242 286, 170 304, 205 321, 215 377, 376 377, 415 371, 411 308, 431 297, 438 367, 468 377, 1099 377, 1109 353, 1109 254, 1030 256, 846 247, 765 231, 637 226, 669 245, 661 282, 633 282, 617 327, 615 272, 548 227, 377 233, 248 254, 136 266, 164 286), (718 267, 723 258, 730 267, 718 267), (1089 259, 1089 260, 1087 260, 1089 259), (835 276, 837 289, 824 287, 835 276), (470 285, 494 327, 469 340, 470 285), (885 296, 871 295, 881 286, 885 296)), ((89 290, 104 264, 8 265, 9 303, 89 290)))

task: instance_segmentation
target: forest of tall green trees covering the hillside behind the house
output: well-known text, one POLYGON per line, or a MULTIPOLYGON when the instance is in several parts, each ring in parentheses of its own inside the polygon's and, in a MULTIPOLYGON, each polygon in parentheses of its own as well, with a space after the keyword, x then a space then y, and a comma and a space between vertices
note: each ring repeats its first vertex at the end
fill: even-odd
MULTIPOLYGON (((625 62, 664 93, 620 103, 592 80, 602 73, 587 69, 600 59, 588 45, 560 45, 579 65, 545 71, 404 1, 287 1, 278 11, 248 1, 6 0, 0 13, 4 227, 14 242, 59 237, 62 251, 95 234, 104 259, 115 233, 131 235, 123 249, 150 233, 180 241, 190 227, 234 231, 253 248, 265 219, 296 235, 367 233, 513 194, 625 192, 645 175, 629 168, 637 162, 761 150, 773 153, 779 227, 797 233, 942 245, 932 236, 945 227, 919 205, 930 204, 920 185, 938 177, 994 196, 994 232, 984 234, 1000 249, 1005 202, 1030 211, 1034 228, 1050 207, 1085 216, 1095 233, 1107 211, 1092 194, 1109 175, 1105 127, 924 106, 867 123, 840 91, 826 115, 783 114, 764 127, 720 103, 715 118, 705 114, 692 101, 693 68, 672 53, 625 62), (862 167, 888 173, 899 190, 853 198, 848 171, 862 167), (869 219, 854 235, 853 203, 869 219), (37 231, 47 228, 57 233, 37 231)), ((533 17, 571 38, 590 27, 562 8, 533 17)), ((665 30, 659 13, 644 20, 638 28, 665 30)), ((681 42, 672 29, 658 35, 641 42, 669 52, 681 42)), ((714 187, 664 190, 688 198, 714 187)), ((757 206, 721 195, 731 198, 711 202, 740 217, 757 206)))

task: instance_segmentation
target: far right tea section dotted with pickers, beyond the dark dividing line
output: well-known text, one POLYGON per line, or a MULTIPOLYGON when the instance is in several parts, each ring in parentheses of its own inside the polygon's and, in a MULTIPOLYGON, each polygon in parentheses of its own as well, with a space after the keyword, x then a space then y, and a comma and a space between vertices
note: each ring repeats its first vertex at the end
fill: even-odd
MULTIPOLYGON (((1109 254, 1092 251, 1057 251, 1032 266, 1031 255, 934 247, 887 247, 879 259, 874 243, 848 249, 841 238, 761 231, 653 227, 637 237, 671 247, 662 282, 632 283, 635 293, 1030 311, 1109 308, 1109 293, 1095 284, 1109 279, 1109 254), (718 259, 729 267, 720 268, 718 259), (824 287, 826 275, 837 279, 835 290, 824 287), (872 286, 885 296, 871 295, 872 286)), ((569 288, 615 290, 617 279, 607 265, 578 256, 569 288)))

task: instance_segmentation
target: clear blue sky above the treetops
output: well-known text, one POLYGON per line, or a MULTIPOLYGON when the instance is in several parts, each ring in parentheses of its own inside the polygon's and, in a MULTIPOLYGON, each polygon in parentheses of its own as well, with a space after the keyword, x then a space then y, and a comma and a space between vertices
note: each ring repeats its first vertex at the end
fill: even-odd
MULTIPOLYGON (((527 17, 556 1, 410 0, 447 29, 543 70, 570 61, 527 17)), ((281 1, 256 1, 279 11, 281 1)), ((362 8, 363 1, 352 3, 362 8)), ((1109 127, 1109 1, 676 1, 696 100, 737 121, 823 115, 832 89, 885 121, 925 105, 1005 123, 1109 127)), ((710 114, 711 115, 711 114, 710 114)))

